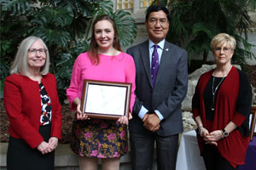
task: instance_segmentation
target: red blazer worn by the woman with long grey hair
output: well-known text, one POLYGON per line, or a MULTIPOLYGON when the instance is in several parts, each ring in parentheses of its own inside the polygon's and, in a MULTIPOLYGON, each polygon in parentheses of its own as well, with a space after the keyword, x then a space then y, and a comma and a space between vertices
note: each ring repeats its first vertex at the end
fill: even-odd
MULTIPOLYGON (((41 81, 52 105, 51 136, 61 139, 61 105, 56 90, 55 76, 47 74, 41 81)), ((41 116, 38 82, 19 74, 6 77, 3 101, 9 117, 10 136, 23 139, 31 148, 36 148, 44 140, 38 133, 41 116)))

